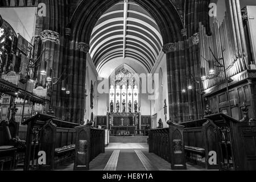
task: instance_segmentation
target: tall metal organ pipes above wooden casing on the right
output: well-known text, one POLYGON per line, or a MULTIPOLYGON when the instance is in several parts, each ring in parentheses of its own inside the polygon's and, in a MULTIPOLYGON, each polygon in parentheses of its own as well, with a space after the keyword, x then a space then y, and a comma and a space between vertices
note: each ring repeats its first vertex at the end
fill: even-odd
POLYGON ((206 27, 200 23, 200 55, 201 55, 201 71, 204 89, 209 89, 215 85, 225 81, 224 69, 217 67, 217 63, 213 63, 213 55, 210 53, 212 49, 217 59, 222 58, 222 49, 224 64, 228 77, 237 75, 249 68, 247 62, 247 47, 245 40, 245 32, 243 30, 241 7, 239 0, 226 1, 226 13, 223 22, 220 24, 214 19, 212 25, 212 35, 208 35, 206 27))

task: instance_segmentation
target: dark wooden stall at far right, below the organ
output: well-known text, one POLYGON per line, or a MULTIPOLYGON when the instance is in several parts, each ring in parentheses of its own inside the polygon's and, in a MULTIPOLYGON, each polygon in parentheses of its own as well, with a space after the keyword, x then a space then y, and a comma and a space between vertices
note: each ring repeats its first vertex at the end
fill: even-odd
POLYGON ((229 171, 256 170, 256 121, 236 119, 225 114, 208 115, 218 126, 220 169, 229 171))

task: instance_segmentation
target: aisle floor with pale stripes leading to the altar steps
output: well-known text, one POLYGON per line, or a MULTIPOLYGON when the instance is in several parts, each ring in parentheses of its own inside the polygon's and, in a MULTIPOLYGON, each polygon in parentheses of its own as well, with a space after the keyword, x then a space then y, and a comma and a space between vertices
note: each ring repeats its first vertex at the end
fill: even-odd
MULTIPOLYGON (((73 162, 65 163, 57 171, 72 171, 73 162)), ((187 163, 188 171, 205 171, 187 163)), ((148 152, 146 143, 110 143, 105 153, 90 162, 90 171, 171 171, 171 164, 148 152)))

